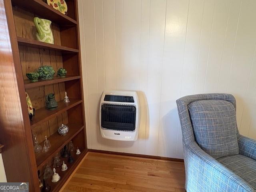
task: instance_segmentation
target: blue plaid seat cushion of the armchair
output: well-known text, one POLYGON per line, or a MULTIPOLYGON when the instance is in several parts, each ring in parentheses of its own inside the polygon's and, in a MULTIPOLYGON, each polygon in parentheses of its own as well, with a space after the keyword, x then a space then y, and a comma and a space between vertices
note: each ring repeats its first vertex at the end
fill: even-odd
POLYGON ((243 155, 230 155, 216 159, 226 168, 240 176, 256 190, 256 161, 243 155))

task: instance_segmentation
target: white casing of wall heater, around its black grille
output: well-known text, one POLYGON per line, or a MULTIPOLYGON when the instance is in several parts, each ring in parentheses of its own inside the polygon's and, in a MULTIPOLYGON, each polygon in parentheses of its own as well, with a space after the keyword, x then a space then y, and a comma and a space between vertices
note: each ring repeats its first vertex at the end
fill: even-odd
MULTIPOLYGON (((103 138, 111 139, 111 140, 122 140, 122 141, 136 141, 138 139, 139 133, 139 102, 138 95, 135 91, 119 91, 119 90, 105 90, 102 94, 102 98, 100 101, 100 132, 103 138), (134 102, 118 102, 118 101, 107 101, 104 100, 105 96, 128 96, 133 97, 134 102), (110 104, 110 105, 121 105, 121 106, 134 106, 136 108, 136 120, 135 120, 135 130, 127 131, 127 130, 115 130, 108 129, 102 127, 102 105, 110 104)), ((118 128, 120 129, 120 128, 118 128)))

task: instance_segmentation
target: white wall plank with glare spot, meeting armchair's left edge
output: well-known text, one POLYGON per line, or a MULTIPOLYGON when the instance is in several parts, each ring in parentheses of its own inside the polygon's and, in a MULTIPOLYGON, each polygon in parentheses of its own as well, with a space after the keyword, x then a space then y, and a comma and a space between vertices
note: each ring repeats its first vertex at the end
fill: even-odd
POLYGON ((175 101, 180 96, 176 90, 179 90, 182 81, 187 18, 188 0, 167 1, 158 141, 160 156, 176 156, 178 112, 175 101))

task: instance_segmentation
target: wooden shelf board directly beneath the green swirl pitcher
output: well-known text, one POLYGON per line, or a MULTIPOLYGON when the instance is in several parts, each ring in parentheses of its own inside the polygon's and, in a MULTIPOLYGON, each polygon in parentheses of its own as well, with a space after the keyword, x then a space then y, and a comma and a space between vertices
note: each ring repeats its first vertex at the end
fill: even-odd
POLYGON ((78 53, 78 49, 73 49, 61 45, 55 45, 55 44, 50 44, 50 43, 44 43, 40 42, 37 40, 31 40, 27 38, 22 38, 22 37, 17 37, 17 41, 19 45, 23 46, 30 46, 34 48, 43 48, 43 49, 50 49, 50 50, 56 50, 56 51, 61 51, 61 52, 66 52, 66 53, 78 53))

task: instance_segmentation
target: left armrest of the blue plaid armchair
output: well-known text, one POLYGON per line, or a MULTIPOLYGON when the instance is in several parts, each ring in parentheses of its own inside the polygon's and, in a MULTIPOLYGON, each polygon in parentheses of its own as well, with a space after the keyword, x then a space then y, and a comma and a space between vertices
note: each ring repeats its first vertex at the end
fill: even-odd
POLYGON ((254 192, 242 178, 204 152, 196 142, 184 146, 186 189, 193 192, 254 192))

